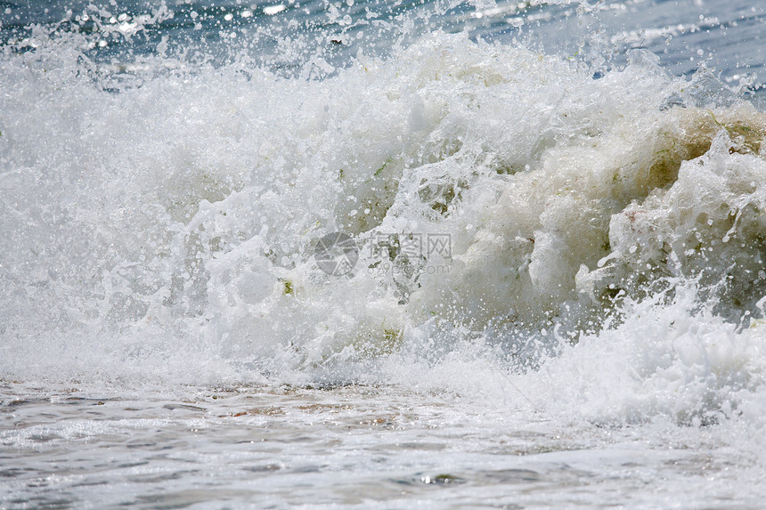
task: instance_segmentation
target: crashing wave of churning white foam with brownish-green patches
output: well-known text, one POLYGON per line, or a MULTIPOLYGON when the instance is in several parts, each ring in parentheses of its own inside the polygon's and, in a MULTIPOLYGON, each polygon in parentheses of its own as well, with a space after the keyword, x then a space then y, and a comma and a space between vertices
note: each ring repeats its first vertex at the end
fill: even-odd
POLYGON ((175 62, 110 93, 87 65, 48 39, 0 71, 5 377, 382 382, 426 363, 461 391, 438 374, 493 353, 540 405, 596 420, 757 415, 766 123, 748 104, 700 104, 646 52, 594 79, 461 35, 322 81, 175 62), (332 231, 360 248, 350 275, 314 261, 332 231), (450 253, 381 255, 384 234, 450 253))

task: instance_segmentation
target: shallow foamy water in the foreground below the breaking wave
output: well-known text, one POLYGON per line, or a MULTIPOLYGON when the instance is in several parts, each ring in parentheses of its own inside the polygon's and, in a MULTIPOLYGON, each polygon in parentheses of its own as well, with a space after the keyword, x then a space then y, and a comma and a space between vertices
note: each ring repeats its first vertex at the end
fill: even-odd
POLYGON ((358 385, 173 398, 4 385, 0 505, 754 508, 766 496, 755 456, 715 427, 562 423, 504 390, 486 405, 358 385))

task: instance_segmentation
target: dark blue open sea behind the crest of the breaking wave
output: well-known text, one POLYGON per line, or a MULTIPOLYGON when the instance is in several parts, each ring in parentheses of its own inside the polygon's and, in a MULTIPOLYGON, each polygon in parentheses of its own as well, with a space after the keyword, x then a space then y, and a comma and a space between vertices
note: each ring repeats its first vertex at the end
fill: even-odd
POLYGON ((746 0, 17 1, 0 3, 0 24, 5 51, 29 51, 38 43, 33 33, 77 34, 87 58, 99 63, 161 54, 321 78, 360 54, 385 56, 423 33, 465 30, 582 61, 595 73, 623 66, 626 53, 645 48, 676 76, 705 69, 746 95, 761 95, 766 82, 766 6, 746 0))

